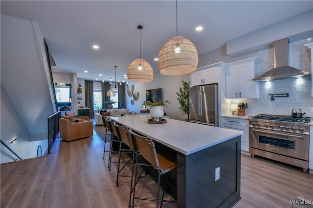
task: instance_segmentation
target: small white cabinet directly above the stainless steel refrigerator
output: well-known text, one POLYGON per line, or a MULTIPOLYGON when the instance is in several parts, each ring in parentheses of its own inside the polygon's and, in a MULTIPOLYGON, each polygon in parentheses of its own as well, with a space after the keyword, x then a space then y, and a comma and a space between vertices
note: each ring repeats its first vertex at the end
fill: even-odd
POLYGON ((218 83, 218 67, 199 68, 196 72, 191 73, 191 86, 218 83))

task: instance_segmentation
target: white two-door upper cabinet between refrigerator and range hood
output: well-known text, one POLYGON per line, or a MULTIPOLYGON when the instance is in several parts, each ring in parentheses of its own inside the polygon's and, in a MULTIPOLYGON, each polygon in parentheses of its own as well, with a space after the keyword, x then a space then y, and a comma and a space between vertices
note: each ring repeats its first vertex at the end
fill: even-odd
POLYGON ((229 63, 226 68, 226 98, 259 98, 258 57, 229 63))

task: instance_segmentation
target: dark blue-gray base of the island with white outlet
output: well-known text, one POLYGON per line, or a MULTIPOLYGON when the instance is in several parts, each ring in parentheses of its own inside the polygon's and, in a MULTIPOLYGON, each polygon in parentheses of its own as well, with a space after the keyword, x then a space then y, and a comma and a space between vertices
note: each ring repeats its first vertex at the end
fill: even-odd
POLYGON ((178 208, 229 208, 240 199, 241 136, 185 155, 177 152, 178 208), (215 181, 215 169, 220 179, 215 181))

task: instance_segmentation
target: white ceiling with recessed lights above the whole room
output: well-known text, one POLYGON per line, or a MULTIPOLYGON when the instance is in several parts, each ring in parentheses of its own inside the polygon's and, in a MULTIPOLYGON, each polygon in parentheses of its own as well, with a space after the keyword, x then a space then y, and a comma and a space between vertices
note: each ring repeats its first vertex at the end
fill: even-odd
MULTIPOLYGON (((123 79, 139 58, 137 25, 143 26, 141 57, 154 73, 159 73, 154 58, 176 36, 175 0, 1 0, 0 8, 1 14, 38 22, 57 65, 53 71, 89 80, 114 81, 114 65, 117 79, 123 79), (93 44, 100 48, 92 49, 93 44)), ((178 35, 191 40, 201 55, 312 8, 311 0, 179 0, 178 35), (197 26, 203 30, 197 32, 197 26)))

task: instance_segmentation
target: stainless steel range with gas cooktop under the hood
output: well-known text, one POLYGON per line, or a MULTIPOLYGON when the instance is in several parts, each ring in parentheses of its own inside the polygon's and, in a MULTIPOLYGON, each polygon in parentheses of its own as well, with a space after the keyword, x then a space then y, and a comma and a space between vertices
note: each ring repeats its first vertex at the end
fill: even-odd
POLYGON ((309 167, 310 117, 259 114, 249 118, 249 151, 297 167, 309 167))

